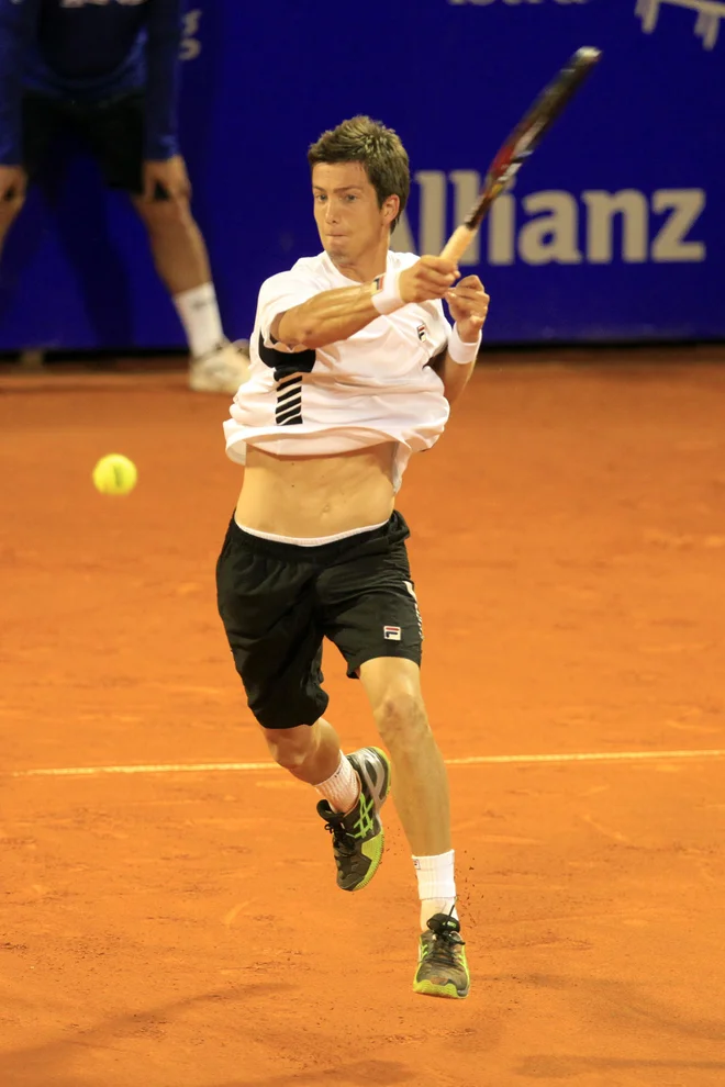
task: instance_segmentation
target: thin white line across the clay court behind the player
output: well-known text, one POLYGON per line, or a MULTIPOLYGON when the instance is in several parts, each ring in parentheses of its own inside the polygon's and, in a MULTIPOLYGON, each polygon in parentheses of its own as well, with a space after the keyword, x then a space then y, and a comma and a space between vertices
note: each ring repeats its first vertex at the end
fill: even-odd
MULTIPOLYGON (((704 751, 592 751, 583 754, 471 755, 446 759, 447 766, 534 765, 571 762, 656 762, 681 759, 725 759, 725 749, 704 751)), ((100 777, 103 774, 219 774, 245 770, 279 770, 275 762, 160 763, 145 766, 67 766, 57 770, 14 770, 9 777, 100 777)))

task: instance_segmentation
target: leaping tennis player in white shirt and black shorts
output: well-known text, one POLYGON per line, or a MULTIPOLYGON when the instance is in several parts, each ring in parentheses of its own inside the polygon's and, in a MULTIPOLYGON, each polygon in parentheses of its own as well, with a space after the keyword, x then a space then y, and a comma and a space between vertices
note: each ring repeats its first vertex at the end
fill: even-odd
POLYGON ((411 453, 435 444, 471 376, 489 298, 450 261, 390 251, 410 190, 393 131, 357 116, 308 157, 324 251, 259 292, 250 377, 225 424, 227 453, 246 470, 219 609, 272 757, 321 797, 343 890, 365 887, 380 863, 392 778, 421 899, 414 988, 460 998, 470 979, 448 784, 394 501, 411 453), (359 677, 390 761, 376 747, 343 754, 323 716, 323 637, 359 677))

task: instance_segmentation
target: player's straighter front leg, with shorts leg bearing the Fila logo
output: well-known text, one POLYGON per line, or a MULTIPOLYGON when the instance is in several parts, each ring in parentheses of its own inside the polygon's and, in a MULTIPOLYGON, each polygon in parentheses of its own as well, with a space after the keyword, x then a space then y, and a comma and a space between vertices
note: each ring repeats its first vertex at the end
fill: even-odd
POLYGON ((415 989, 464 997, 470 980, 456 911, 448 780, 421 692, 423 636, 406 535, 395 513, 367 551, 330 570, 326 634, 345 657, 348 675, 359 675, 390 752, 395 807, 421 899, 415 989))

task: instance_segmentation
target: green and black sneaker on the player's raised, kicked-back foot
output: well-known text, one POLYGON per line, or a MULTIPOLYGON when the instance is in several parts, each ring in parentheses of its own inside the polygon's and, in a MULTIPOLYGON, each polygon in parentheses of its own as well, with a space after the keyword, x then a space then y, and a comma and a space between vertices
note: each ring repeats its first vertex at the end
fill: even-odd
POLYGON ((382 859, 384 836, 378 813, 390 791, 390 762, 379 748, 360 748, 347 757, 360 778, 360 796, 352 811, 335 811, 320 800, 317 813, 333 836, 337 886, 367 887, 382 859))

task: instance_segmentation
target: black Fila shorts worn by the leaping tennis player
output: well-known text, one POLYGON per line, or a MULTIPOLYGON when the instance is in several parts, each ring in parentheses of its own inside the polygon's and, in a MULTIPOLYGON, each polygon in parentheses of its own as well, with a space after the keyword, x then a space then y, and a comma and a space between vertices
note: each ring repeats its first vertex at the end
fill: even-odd
POLYGON ((382 528, 317 547, 260 539, 232 520, 216 563, 219 613, 260 725, 314 725, 324 714, 325 637, 353 679, 377 657, 421 663, 409 536, 398 512, 382 528))

